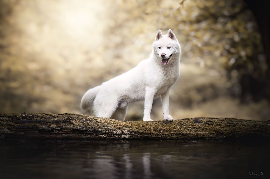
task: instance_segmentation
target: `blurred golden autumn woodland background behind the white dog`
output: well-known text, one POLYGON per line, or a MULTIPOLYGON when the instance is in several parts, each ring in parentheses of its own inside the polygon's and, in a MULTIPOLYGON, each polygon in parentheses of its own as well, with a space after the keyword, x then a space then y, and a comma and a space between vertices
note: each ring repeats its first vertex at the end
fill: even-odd
MULTIPOLYGON (((174 119, 269 120, 269 11, 252 0, 1 0, 0 112, 81 113, 89 88, 149 57, 156 32, 182 47, 174 119)), ((87 114, 91 114, 90 112, 87 114)), ((161 100, 152 119, 161 120, 161 100)), ((126 120, 141 120, 143 102, 126 120)))

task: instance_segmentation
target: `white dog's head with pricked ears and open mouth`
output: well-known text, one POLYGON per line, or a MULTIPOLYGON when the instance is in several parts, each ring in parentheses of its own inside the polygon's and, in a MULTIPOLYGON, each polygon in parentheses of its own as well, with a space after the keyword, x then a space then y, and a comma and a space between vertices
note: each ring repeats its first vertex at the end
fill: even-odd
POLYGON ((169 29, 167 35, 162 35, 161 30, 157 31, 156 40, 153 44, 154 55, 162 65, 178 60, 180 56, 180 45, 173 31, 169 29))

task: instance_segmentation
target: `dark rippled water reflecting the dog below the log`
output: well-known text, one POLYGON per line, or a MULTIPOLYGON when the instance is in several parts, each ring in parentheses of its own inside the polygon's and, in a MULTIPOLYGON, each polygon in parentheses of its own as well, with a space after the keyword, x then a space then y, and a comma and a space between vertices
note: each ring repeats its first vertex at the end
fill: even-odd
POLYGON ((270 178, 269 142, 2 140, 0 178, 270 178))

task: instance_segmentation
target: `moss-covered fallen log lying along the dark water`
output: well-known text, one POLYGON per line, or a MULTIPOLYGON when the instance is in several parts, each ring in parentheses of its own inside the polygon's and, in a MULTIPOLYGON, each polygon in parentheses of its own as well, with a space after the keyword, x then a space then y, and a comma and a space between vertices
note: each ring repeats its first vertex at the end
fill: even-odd
POLYGON ((269 121, 188 118, 120 122, 80 114, 0 114, 0 138, 224 139, 270 138, 269 121))

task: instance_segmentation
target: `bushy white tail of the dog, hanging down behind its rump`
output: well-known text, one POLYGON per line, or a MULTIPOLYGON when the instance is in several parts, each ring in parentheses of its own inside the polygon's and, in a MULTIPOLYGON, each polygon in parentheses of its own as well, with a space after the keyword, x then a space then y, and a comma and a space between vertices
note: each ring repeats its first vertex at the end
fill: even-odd
POLYGON ((100 90, 100 86, 96 86, 90 90, 88 90, 82 97, 81 100, 81 109, 82 112, 85 113, 90 105, 93 103, 97 93, 100 90))

